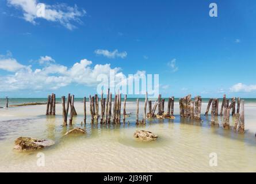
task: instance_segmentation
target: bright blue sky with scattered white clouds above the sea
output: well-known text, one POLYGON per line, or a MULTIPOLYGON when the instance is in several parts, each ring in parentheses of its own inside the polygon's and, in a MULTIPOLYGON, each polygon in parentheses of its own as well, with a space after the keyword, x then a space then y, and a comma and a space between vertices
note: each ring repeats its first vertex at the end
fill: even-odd
POLYGON ((256 98, 255 17, 253 0, 0 0, 0 97, 84 97, 114 70, 159 74, 163 97, 256 98))

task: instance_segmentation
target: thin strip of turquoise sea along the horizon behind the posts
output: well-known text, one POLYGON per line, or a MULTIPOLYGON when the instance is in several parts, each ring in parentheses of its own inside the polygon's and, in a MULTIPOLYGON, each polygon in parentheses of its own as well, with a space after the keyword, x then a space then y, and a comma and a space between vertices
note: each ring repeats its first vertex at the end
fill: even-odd
MULTIPOLYGON (((128 102, 135 102, 137 98, 128 98, 128 102)), ((255 103, 256 104, 256 98, 243 98, 245 100, 246 104, 255 103)), ((152 99, 155 100, 155 99, 152 99)), ((178 102, 179 98, 175 98, 175 102, 178 102)), ((56 102, 60 103, 62 100, 60 98, 56 98, 56 102)), ((87 98, 87 101, 89 101, 89 98, 87 98)), ((112 100, 113 101, 113 100, 112 100)), ((124 101, 124 99, 122 99, 124 101)), ((139 98, 140 102, 145 101, 145 98, 139 98)), ((168 101, 168 98, 165 98, 165 101, 168 101)), ((202 98, 203 103, 207 103, 209 101, 209 98, 202 98)), ((220 99, 221 101, 221 99, 220 99)), ((230 98, 231 101, 231 98, 230 98)), ((47 98, 9 98, 9 105, 17 105, 17 104, 26 104, 26 103, 45 103, 47 102, 47 98)), ((83 98, 75 98, 75 102, 83 102, 83 98)), ((0 98, 0 107, 6 106, 6 99, 0 98)))

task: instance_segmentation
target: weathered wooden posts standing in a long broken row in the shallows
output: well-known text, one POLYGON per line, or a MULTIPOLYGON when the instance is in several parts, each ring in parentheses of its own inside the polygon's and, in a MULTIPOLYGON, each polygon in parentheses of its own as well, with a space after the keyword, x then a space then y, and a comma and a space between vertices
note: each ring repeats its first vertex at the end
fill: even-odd
MULTIPOLYGON (((77 112, 74 107, 74 95, 68 94, 67 103, 66 97, 62 97, 62 109, 63 109, 63 121, 64 125, 67 125, 67 116, 68 111, 70 109, 70 120, 69 124, 72 125, 73 116, 77 116, 77 112)), ((89 96, 89 105, 90 105, 90 115, 91 115, 91 123, 98 123, 100 118, 101 124, 121 124, 121 94, 114 95, 113 102, 113 114, 112 114, 112 93, 108 93, 106 98, 103 97, 103 92, 101 93, 101 112, 99 112, 99 98, 98 95, 89 96), (100 115, 101 113, 101 115, 100 115)), ((124 95, 124 107, 123 107, 123 123, 125 123, 125 117, 127 117, 126 112, 126 103, 127 103, 127 95, 124 95)), ((55 94, 48 95, 47 100, 47 115, 55 115, 55 94)), ((184 98, 179 99, 179 115, 182 118, 189 118, 193 120, 201 120, 201 106, 202 106, 202 98, 201 96, 194 97, 192 101, 191 95, 187 95, 184 98)), ((235 131, 238 127, 239 133, 244 133, 244 100, 240 98, 232 98, 231 104, 229 103, 229 99, 226 98, 226 95, 223 96, 223 102, 221 104, 221 109, 219 113, 219 99, 210 98, 207 110, 205 112, 205 116, 208 116, 209 109, 211 109, 211 123, 212 125, 219 124, 216 121, 217 116, 223 116, 224 123, 223 127, 226 129, 230 128, 230 111, 231 115, 235 116, 235 131), (237 99, 237 109, 236 107, 236 99, 237 99), (241 113, 240 113, 241 107, 241 113)), ((84 122, 86 123, 86 97, 83 98, 83 114, 84 114, 84 122)), ((139 98, 136 100, 136 124, 146 124, 146 118, 173 118, 174 117, 174 97, 170 97, 168 99, 167 112, 165 113, 165 98, 161 97, 159 94, 158 99, 155 101, 154 106, 152 108, 152 101, 148 101, 147 93, 144 102, 144 116, 143 120, 139 121, 139 98), (147 104, 148 104, 148 113, 147 113, 147 104), (158 108, 158 113, 155 114, 156 108, 158 108)))

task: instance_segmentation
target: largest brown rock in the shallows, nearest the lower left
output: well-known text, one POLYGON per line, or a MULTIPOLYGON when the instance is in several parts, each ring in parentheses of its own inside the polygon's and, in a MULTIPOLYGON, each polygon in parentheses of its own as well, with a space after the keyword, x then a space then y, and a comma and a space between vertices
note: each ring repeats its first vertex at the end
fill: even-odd
POLYGON ((34 151, 55 144, 52 140, 36 139, 31 137, 18 137, 14 142, 14 150, 34 151))

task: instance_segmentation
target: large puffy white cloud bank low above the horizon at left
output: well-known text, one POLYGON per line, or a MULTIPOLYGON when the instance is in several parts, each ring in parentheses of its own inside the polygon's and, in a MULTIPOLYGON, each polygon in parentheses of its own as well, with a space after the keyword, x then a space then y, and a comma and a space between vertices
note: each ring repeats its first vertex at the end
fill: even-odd
MULTIPOLYGON (((51 57, 48 56, 49 58, 51 57)), ((111 68, 110 64, 92 65, 93 62, 90 60, 83 59, 70 68, 61 64, 49 63, 41 68, 32 69, 32 66, 24 66, 13 58, 1 59, 0 69, 13 73, 0 76, 0 91, 56 90, 71 83, 97 86, 97 76, 100 74, 109 76, 110 70, 114 70, 116 76, 124 75, 120 72, 120 68, 111 68)))

